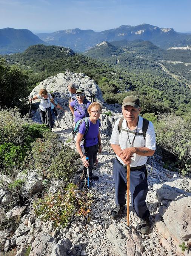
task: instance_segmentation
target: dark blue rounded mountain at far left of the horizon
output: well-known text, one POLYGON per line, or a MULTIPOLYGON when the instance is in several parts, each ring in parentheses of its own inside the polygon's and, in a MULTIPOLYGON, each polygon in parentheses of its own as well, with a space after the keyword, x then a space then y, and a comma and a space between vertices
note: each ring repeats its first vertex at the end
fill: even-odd
POLYGON ((45 44, 38 36, 28 29, 0 29, 0 53, 23 52, 34 44, 45 44))

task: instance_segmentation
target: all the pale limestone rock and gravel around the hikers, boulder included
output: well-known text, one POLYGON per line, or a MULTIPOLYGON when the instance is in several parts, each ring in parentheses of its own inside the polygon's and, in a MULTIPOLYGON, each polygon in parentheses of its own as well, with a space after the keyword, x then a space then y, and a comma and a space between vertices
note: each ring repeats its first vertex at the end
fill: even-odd
MULTIPOLYGON (((85 90, 86 96, 94 94, 97 101, 102 102, 100 116, 102 153, 98 154, 99 165, 94 173, 99 175, 98 181, 92 181, 89 192, 93 195, 88 220, 74 217, 67 228, 55 228, 52 221, 46 223, 37 218, 28 205, 15 206, 6 212, 7 218, 20 219, 19 226, 13 236, 5 229, 0 231, 0 255, 10 248, 15 248, 17 256, 24 256, 26 249, 31 248, 29 256, 167 256, 191 255, 191 180, 178 173, 163 168, 161 156, 154 154, 148 158, 148 195, 146 203, 151 213, 151 232, 142 235, 139 231, 139 218, 130 206, 130 226, 126 226, 126 212, 120 220, 112 220, 110 212, 115 206, 114 180, 112 165, 115 157, 109 144, 114 122, 119 119, 121 106, 104 104, 102 93, 94 80, 83 73, 66 71, 49 77, 34 88, 35 95, 41 88, 54 91, 56 101, 65 109, 59 114, 52 132, 59 135, 60 140, 71 148, 75 143, 71 139, 71 113, 68 108, 68 83, 74 82, 85 90), (68 127, 67 127, 67 125, 68 127), (183 245, 181 251, 179 245, 183 245)), ((40 122, 38 103, 33 104, 34 122, 40 122), (35 106, 36 105, 36 109, 35 106), (37 110, 37 111, 36 111, 37 110)), ((75 174, 74 182, 80 181, 82 164, 75 174)), ((23 174, 22 174, 23 175, 23 174)), ((0 179, 8 179, 0 175, 0 179)), ((20 177, 20 176, 19 176, 20 177)), ((44 188, 42 175, 32 170, 25 176, 22 189, 23 197, 29 198, 44 188)), ((60 180, 52 182, 49 192, 57 192, 60 180)), ((85 189, 81 187, 80 189, 85 189)), ((10 201, 8 192, 0 190, 0 204, 5 206, 10 201)), ((131 200, 130 200, 131 204, 131 200)))

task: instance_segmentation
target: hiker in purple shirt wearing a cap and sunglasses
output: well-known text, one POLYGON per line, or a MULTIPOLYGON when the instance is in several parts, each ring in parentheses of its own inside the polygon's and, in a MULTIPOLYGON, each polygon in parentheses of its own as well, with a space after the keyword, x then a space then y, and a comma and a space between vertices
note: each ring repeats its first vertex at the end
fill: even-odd
POLYGON ((69 109, 74 116, 74 123, 86 116, 89 116, 88 107, 91 104, 91 102, 86 99, 85 92, 82 88, 79 88, 76 91, 76 97, 76 100, 69 103, 69 109))

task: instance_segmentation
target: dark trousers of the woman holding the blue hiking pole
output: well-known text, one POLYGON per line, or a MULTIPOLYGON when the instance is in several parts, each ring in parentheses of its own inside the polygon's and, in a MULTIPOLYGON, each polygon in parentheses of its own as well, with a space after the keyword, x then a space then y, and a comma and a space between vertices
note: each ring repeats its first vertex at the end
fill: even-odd
MULTIPOLYGON (((97 158, 99 143, 97 143, 94 146, 84 147, 84 149, 85 149, 85 156, 89 157, 89 160, 88 160, 89 161, 89 176, 92 176, 92 170, 94 167, 95 160, 97 158)), ((84 170, 84 174, 86 175, 87 169, 84 167, 83 170, 84 170)))

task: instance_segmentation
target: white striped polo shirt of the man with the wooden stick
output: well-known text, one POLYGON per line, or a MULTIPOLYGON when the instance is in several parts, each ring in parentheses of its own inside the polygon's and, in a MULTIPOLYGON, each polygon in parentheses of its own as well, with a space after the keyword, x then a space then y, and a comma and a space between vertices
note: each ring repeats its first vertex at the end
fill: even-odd
MULTIPOLYGON (((113 131, 111 134, 111 139, 109 142, 110 142, 110 144, 119 145, 121 149, 130 148, 131 145, 129 143, 129 140, 132 144, 135 134, 130 133, 130 132, 128 133, 129 128, 127 127, 127 123, 126 123, 125 119, 123 120, 123 123, 122 123, 123 130, 121 130, 121 132, 119 134, 119 130, 118 130, 119 121, 120 121, 120 119, 118 119, 114 125, 113 131), (128 140, 128 135, 129 135, 129 140, 128 140)), ((142 127, 143 127, 143 118, 141 116, 139 116, 139 121, 137 124, 137 132, 142 133, 143 132, 142 127)), ((133 131, 136 132, 136 129, 134 129, 133 131)), ((148 129, 146 131, 145 140, 144 140, 143 135, 136 135, 134 144, 132 146, 133 147, 146 147, 146 148, 149 148, 152 150, 156 149, 154 126, 150 121, 149 121, 148 129)), ((124 165, 124 163, 120 159, 120 157, 117 156, 117 159, 120 161, 120 163, 122 163, 124 165)), ((131 160, 130 166, 136 167, 136 166, 144 165, 147 161, 147 156, 134 154, 134 156, 131 159, 132 160, 131 160)))

